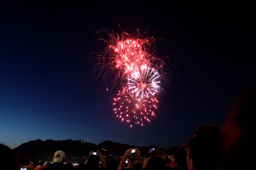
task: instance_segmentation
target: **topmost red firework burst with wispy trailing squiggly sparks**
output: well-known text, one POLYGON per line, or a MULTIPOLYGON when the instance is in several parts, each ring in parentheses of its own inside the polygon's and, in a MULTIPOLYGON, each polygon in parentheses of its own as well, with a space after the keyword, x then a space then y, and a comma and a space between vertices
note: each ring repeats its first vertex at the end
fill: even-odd
MULTIPOLYGON (((160 61, 154 51, 154 37, 134 40, 129 38, 129 34, 126 32, 123 32, 120 37, 117 33, 106 29, 102 29, 96 34, 101 35, 98 38, 98 43, 105 47, 104 51, 97 54, 96 57, 96 68, 93 72, 95 79, 103 75, 106 81, 106 76, 114 73, 115 78, 120 78, 123 83, 135 68, 150 67, 154 61, 160 61)), ((90 53, 89 56, 96 53, 98 52, 90 53)))

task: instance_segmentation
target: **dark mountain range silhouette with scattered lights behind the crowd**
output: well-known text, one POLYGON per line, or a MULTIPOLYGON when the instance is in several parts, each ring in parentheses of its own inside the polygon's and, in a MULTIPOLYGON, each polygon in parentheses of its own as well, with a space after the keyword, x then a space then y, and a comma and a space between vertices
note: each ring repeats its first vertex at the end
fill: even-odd
MULTIPOLYGON (((104 159, 108 159, 109 155, 123 156, 125 151, 131 147, 139 148, 142 156, 146 156, 150 148, 158 148, 155 145, 139 147, 113 141, 104 141, 96 145, 94 143, 85 142, 83 140, 67 139, 62 141, 54 141, 52 139, 47 139, 46 141, 42 141, 41 139, 37 139, 35 141, 23 143, 13 150, 19 155, 20 158, 29 158, 32 162, 36 158, 39 158, 44 162, 52 162, 54 153, 57 150, 62 150, 66 155, 65 162, 71 161, 72 163, 84 163, 92 150, 100 150, 102 156, 105 156, 104 159)), ((177 148, 178 146, 166 149, 167 154, 174 155, 177 148)))

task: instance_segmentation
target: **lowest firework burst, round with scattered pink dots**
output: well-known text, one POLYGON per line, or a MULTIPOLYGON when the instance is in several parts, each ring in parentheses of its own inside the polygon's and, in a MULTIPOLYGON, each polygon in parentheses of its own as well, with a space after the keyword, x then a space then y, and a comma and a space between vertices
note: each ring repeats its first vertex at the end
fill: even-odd
POLYGON ((129 88, 125 87, 119 91, 117 98, 114 98, 114 113, 122 122, 140 124, 143 126, 144 121, 150 122, 155 117, 158 100, 156 97, 138 98, 133 95, 129 88))

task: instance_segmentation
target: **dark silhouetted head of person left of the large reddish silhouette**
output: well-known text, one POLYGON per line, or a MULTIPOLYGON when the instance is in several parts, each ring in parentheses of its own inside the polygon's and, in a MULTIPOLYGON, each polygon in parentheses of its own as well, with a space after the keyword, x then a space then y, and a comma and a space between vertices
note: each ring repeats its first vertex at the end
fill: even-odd
POLYGON ((187 143, 187 168, 189 170, 216 170, 221 147, 221 127, 202 125, 187 143))

